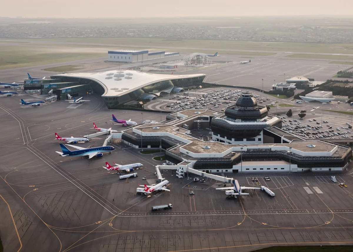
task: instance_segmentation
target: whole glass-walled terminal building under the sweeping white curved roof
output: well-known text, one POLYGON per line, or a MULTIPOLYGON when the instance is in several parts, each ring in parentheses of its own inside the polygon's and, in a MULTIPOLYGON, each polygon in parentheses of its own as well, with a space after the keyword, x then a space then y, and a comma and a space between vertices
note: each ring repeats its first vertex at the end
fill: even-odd
POLYGON ((63 73, 50 78, 60 79, 62 83, 89 85, 95 93, 102 95, 109 109, 114 109, 134 100, 150 101, 163 93, 183 92, 185 87, 201 85, 205 76, 112 70, 99 73, 63 73))

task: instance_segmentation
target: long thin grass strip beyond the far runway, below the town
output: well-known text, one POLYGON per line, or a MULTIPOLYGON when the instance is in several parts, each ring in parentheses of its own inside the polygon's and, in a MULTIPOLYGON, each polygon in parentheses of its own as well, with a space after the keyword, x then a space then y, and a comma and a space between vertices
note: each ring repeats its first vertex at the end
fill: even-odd
MULTIPOLYGON (((163 38, 53 38, 53 39, 19 39, 19 41, 59 41, 73 43, 95 43, 112 45, 130 45, 217 50, 264 50, 276 52, 306 52, 306 53, 344 53, 353 54, 353 43, 292 43, 292 42, 251 42, 234 40, 168 40, 163 38)), ((170 49, 169 49, 170 50, 170 49)), ((198 50, 201 51, 201 50, 198 50)))

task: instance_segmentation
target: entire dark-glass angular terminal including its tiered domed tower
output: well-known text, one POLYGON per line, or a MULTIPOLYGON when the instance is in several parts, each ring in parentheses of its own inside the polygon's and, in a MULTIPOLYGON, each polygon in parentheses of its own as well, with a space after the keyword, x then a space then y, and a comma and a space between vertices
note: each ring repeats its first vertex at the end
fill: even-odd
POLYGON ((342 172, 347 167, 351 148, 289 134, 281 130, 280 118, 254 105, 256 100, 244 94, 223 114, 212 109, 180 110, 168 114, 164 123, 132 126, 112 133, 112 138, 121 138, 133 148, 163 148, 167 163, 183 171, 342 172), (207 129, 214 130, 213 141, 190 136, 207 129))

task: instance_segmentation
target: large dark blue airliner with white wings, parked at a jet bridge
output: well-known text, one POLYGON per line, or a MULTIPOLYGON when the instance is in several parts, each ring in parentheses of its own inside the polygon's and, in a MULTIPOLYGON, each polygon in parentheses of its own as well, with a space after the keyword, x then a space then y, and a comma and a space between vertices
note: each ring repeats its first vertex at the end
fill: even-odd
POLYGON ((94 156, 96 157, 103 157, 102 152, 111 152, 112 150, 115 150, 113 146, 101 146, 101 147, 95 147, 95 148, 82 148, 70 144, 66 144, 67 146, 76 148, 78 150, 71 151, 67 149, 67 147, 64 144, 60 144, 62 152, 55 151, 56 153, 60 154, 62 157, 70 156, 70 157, 78 157, 78 156, 88 156, 88 158, 92 158, 94 156))

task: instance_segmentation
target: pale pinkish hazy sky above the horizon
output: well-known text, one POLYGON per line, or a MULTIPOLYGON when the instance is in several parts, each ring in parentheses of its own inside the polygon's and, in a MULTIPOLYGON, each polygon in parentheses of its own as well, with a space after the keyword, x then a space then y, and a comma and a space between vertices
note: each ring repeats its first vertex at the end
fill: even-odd
POLYGON ((353 0, 9 0, 1 17, 352 15, 353 0))

